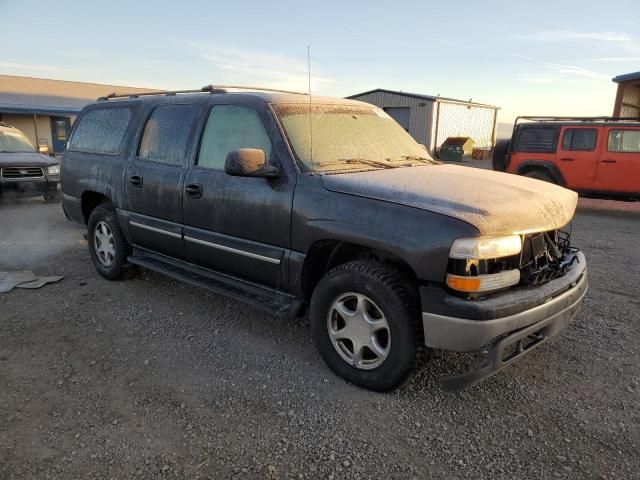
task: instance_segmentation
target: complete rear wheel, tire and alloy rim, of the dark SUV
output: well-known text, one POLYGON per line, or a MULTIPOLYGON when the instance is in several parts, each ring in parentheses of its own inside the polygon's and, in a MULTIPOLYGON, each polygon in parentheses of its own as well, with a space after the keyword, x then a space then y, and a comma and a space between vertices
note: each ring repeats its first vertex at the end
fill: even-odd
POLYGON ((91 212, 87 242, 98 273, 108 280, 118 279, 124 273, 130 249, 110 204, 98 205, 91 212))

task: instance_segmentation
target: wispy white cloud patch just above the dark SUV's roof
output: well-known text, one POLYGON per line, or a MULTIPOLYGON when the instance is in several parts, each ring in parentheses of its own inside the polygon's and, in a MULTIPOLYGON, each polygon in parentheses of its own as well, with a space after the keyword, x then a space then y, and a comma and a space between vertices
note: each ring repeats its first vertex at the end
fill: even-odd
MULTIPOLYGON (((249 84, 268 88, 282 88, 306 92, 308 89, 307 59, 277 55, 257 50, 243 50, 226 46, 192 44, 197 55, 216 70, 214 83, 249 84)), ((333 80, 321 74, 312 63, 312 90, 322 90, 333 80)))

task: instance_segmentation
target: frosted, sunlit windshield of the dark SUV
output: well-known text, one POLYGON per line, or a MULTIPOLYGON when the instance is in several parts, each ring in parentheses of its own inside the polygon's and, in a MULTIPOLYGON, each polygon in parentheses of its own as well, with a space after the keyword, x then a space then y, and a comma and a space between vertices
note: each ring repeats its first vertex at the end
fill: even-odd
POLYGON ((380 108, 304 104, 273 108, 296 157, 313 171, 433 163, 424 147, 380 108))

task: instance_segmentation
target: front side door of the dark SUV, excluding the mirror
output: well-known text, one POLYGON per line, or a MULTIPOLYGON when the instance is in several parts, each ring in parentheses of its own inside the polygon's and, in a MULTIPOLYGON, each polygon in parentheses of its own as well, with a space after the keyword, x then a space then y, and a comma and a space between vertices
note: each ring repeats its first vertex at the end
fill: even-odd
POLYGON ((264 150, 280 163, 277 127, 266 109, 214 105, 202 132, 196 164, 184 188, 184 239, 189 261, 273 287, 286 279, 295 178, 234 177, 224 171, 227 154, 264 150), (266 126, 265 126, 266 122, 266 126))

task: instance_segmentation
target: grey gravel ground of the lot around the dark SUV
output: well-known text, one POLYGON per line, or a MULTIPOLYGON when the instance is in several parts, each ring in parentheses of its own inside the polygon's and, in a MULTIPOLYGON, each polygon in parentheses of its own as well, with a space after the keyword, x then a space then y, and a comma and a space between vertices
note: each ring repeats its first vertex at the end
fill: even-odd
POLYGON ((0 478, 638 478, 640 215, 581 209, 591 289, 552 341, 458 394, 438 353, 391 394, 284 321, 149 272, 108 282, 59 205, 0 204, 0 478))

